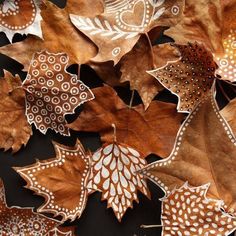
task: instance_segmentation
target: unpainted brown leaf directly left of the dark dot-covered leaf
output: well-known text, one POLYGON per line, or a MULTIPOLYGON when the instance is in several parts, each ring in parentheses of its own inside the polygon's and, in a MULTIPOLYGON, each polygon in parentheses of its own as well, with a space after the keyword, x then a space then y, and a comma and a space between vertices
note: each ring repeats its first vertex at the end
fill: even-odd
POLYGON ((121 82, 130 82, 131 89, 137 90, 141 96, 145 109, 158 92, 164 89, 147 71, 179 58, 169 44, 156 45, 151 50, 150 47, 147 38, 143 37, 120 61, 121 82))

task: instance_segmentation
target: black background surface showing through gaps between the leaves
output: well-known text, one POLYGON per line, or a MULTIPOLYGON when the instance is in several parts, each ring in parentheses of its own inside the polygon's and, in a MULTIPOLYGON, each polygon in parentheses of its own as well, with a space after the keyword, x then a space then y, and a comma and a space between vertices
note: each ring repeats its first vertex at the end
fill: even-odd
MULTIPOLYGON (((66 1, 53 1, 58 6, 64 7, 66 1)), ((25 36, 15 35, 14 42, 24 39, 25 36)), ((168 39, 162 37, 158 42, 163 42, 168 39)), ((5 34, 0 33, 0 46, 8 44, 5 34)), ((7 69, 13 74, 19 74, 24 80, 26 73, 22 71, 23 66, 18 62, 0 54, 0 69, 7 69)), ((78 66, 72 65, 68 71, 76 73, 78 66)), ((81 67, 81 80, 91 88, 102 86, 103 82, 99 79, 96 73, 88 66, 81 67)), ((223 83, 225 91, 229 91, 232 97, 232 92, 227 84, 223 83)), ((128 104, 131 92, 128 87, 116 88, 120 97, 128 104)), ((0 98, 1 99, 1 98, 0 98)), ((160 93, 155 99, 169 102, 177 102, 177 98, 171 95, 168 91, 160 93)), ((218 101, 220 106, 226 104, 226 99, 219 95, 218 101)), ((134 105, 141 103, 137 94, 135 94, 134 105)), ((75 115, 67 116, 68 122, 73 121, 79 114, 82 108, 76 110, 75 115)), ((6 200, 8 206, 21 207, 39 207, 43 204, 44 199, 36 196, 32 191, 25 189, 23 186, 25 181, 12 169, 13 166, 25 166, 35 163, 36 159, 48 159, 55 157, 54 149, 51 141, 65 145, 74 145, 76 138, 79 138, 87 150, 96 151, 100 146, 100 138, 96 133, 82 133, 71 131, 71 137, 64 137, 55 134, 53 131, 48 131, 46 135, 41 134, 33 127, 33 135, 30 138, 26 147, 21 148, 19 152, 12 155, 11 151, 3 152, 0 150, 0 177, 3 179, 6 189, 6 200)), ((144 140, 145 141, 145 140, 144 140)), ((159 159, 157 156, 150 155, 147 157, 148 162, 159 159)), ((148 200, 142 194, 139 194, 139 204, 134 203, 133 209, 128 209, 121 223, 115 218, 113 211, 106 208, 106 202, 101 202, 101 194, 92 194, 83 212, 81 218, 74 222, 66 222, 64 225, 77 225, 78 236, 158 236, 161 235, 160 228, 141 229, 142 224, 160 224, 160 209, 161 203, 158 200, 164 194, 151 182, 148 182, 152 200, 148 200)))

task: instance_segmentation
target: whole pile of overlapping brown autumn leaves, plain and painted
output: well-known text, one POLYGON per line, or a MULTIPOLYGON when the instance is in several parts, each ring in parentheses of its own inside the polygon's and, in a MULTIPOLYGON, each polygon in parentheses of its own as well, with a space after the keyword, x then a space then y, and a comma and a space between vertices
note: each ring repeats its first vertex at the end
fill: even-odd
POLYGON ((80 218, 96 191, 121 221, 138 191, 151 199, 149 179, 165 193, 162 235, 231 234, 235 12, 235 0, 67 0, 64 8, 4 0, 0 30, 10 43, 0 53, 27 73, 4 71, 0 79, 0 148, 21 152, 33 130, 49 129, 96 132, 102 146, 91 152, 79 140, 53 142, 54 158, 15 167, 45 202, 37 213, 8 208, 3 190, 1 233, 74 235, 59 225, 80 218), (13 42, 15 34, 25 36, 13 42), (68 71, 74 64, 77 74, 68 71), (80 80, 81 65, 103 85, 80 80), (117 93, 121 87, 130 101, 117 93), (148 164, 150 154, 160 160, 148 164))

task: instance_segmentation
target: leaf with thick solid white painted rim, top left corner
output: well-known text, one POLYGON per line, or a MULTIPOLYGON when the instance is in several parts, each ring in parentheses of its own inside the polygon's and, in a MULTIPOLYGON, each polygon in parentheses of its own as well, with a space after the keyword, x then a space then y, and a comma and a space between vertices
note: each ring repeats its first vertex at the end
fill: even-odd
POLYGON ((14 34, 33 34, 42 38, 40 1, 4 0, 0 4, 0 31, 12 41, 14 34))

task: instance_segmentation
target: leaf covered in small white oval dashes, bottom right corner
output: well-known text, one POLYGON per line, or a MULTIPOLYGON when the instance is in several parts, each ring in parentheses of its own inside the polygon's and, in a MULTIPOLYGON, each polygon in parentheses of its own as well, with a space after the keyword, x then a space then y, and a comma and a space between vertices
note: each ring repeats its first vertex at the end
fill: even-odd
POLYGON ((175 189, 162 201, 162 235, 229 235, 235 218, 222 211, 223 202, 206 197, 209 185, 175 189))

